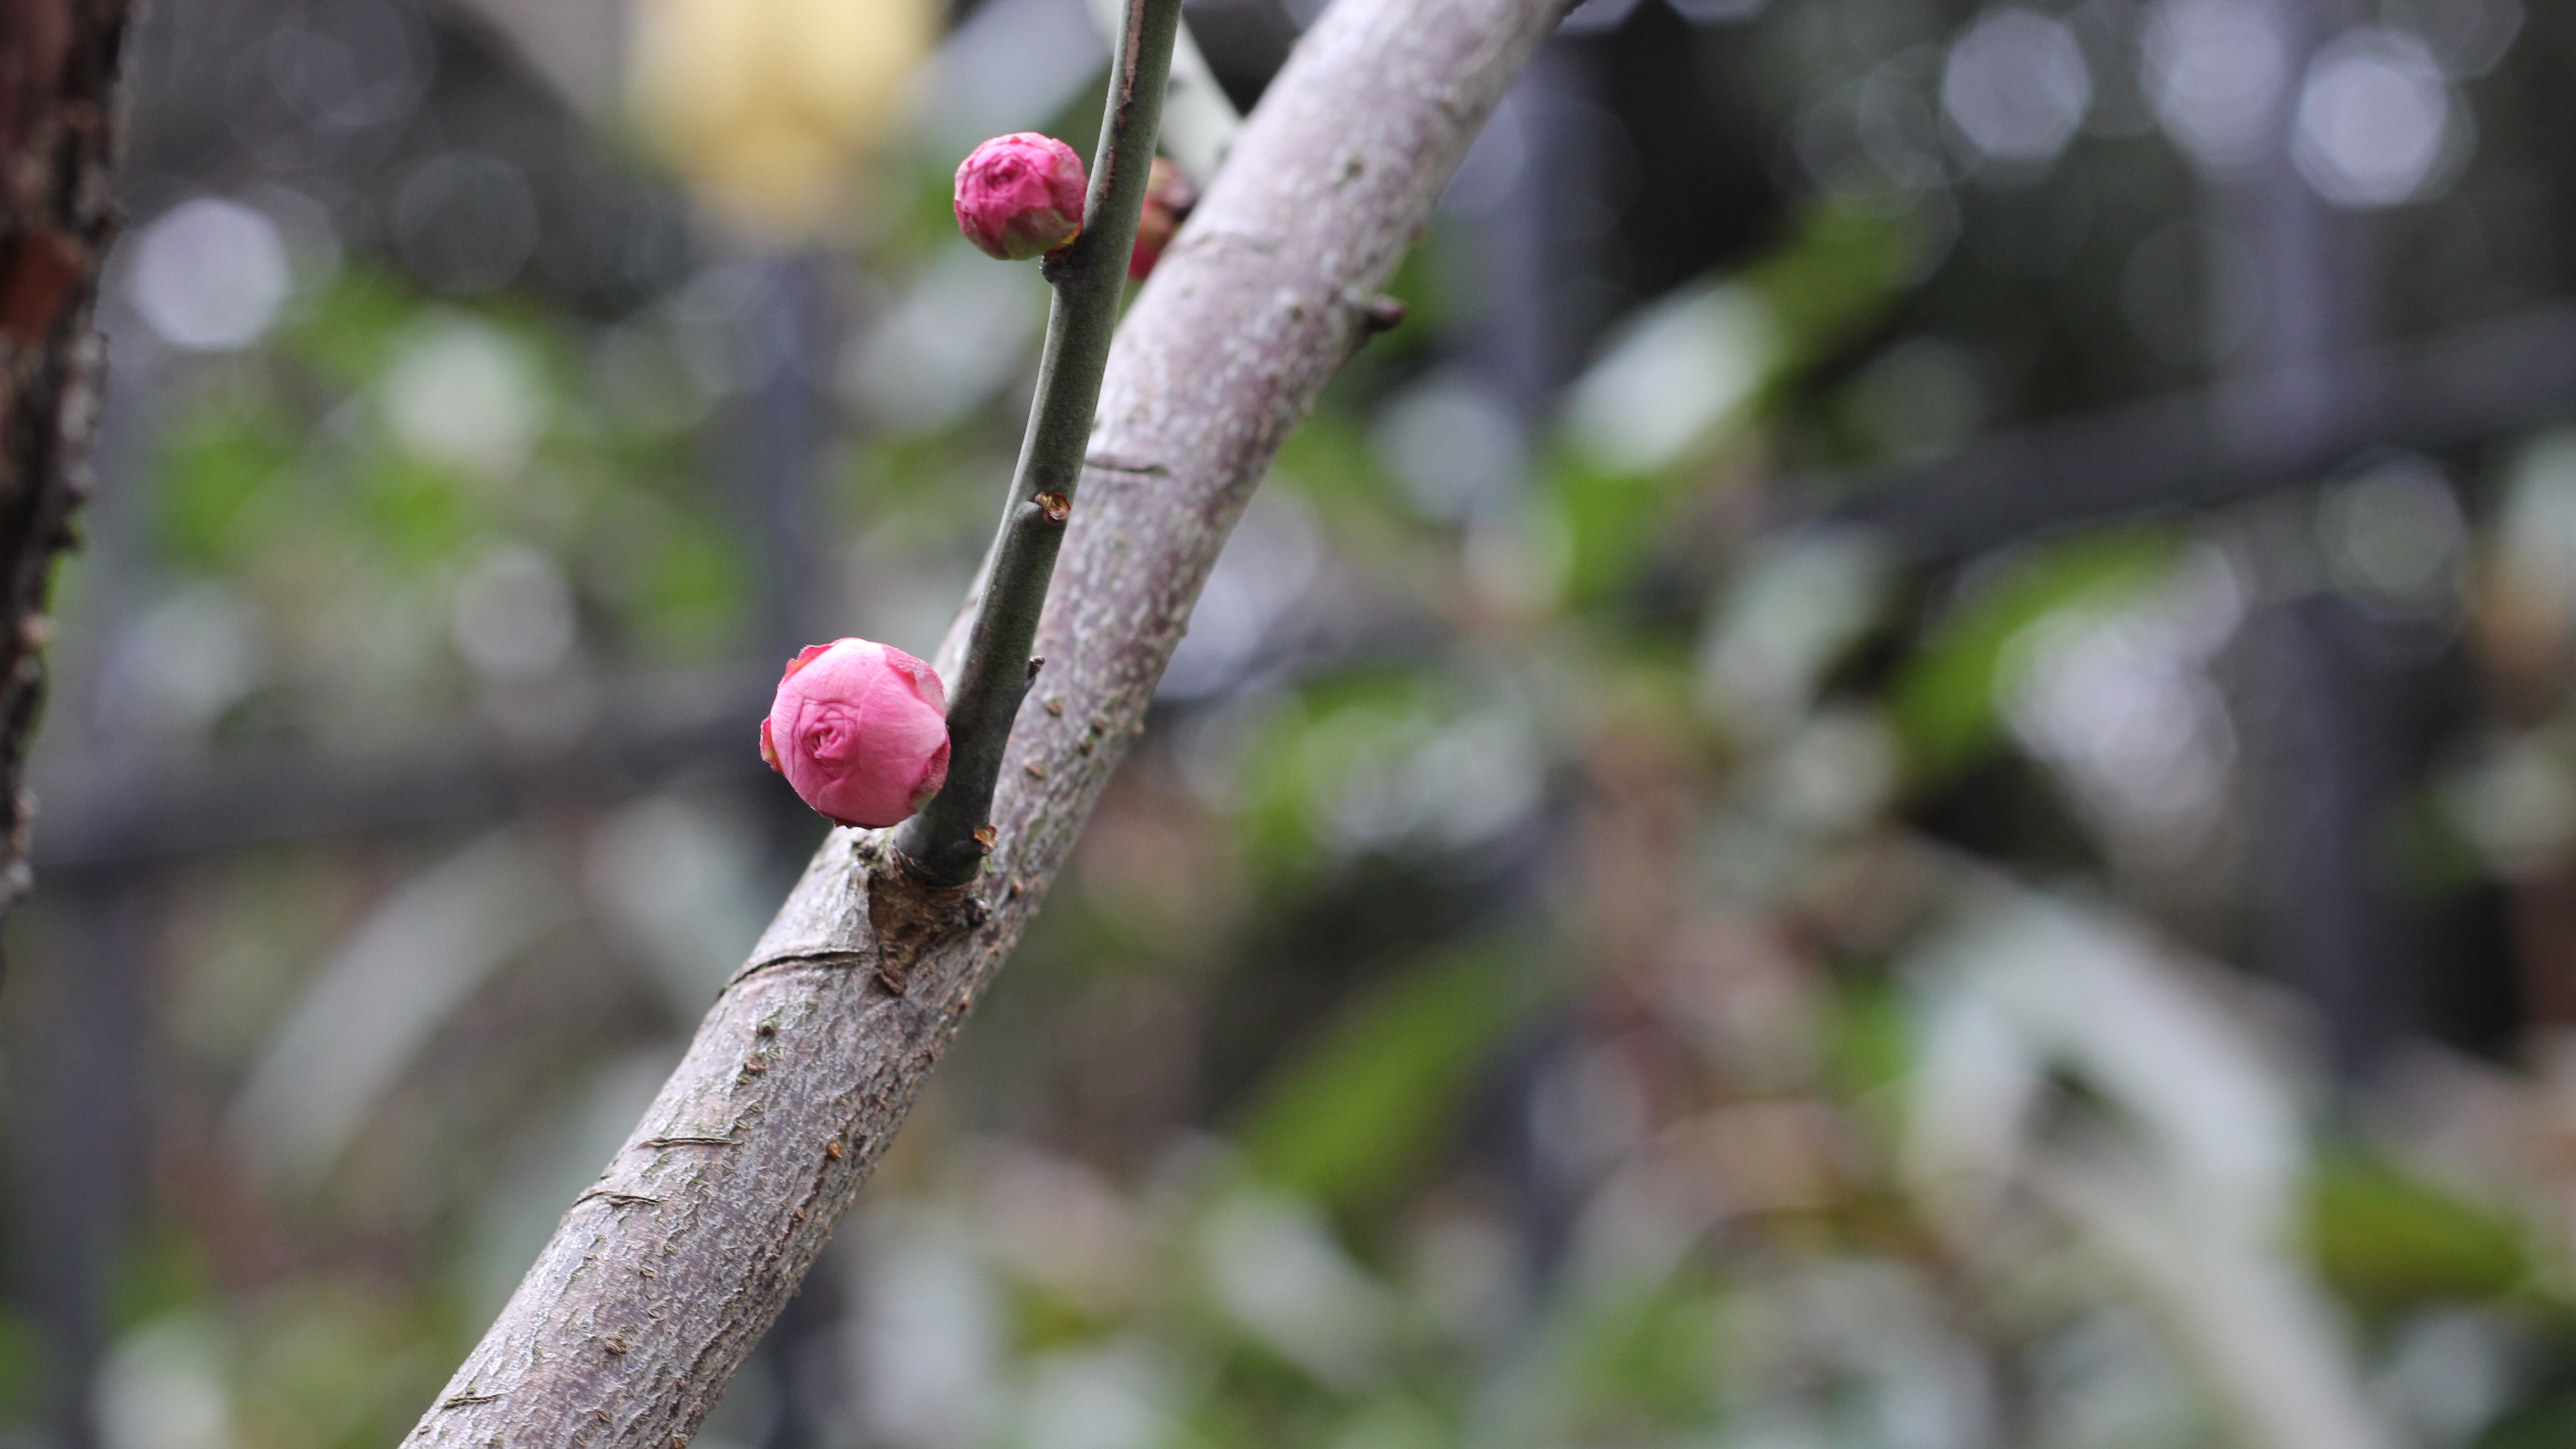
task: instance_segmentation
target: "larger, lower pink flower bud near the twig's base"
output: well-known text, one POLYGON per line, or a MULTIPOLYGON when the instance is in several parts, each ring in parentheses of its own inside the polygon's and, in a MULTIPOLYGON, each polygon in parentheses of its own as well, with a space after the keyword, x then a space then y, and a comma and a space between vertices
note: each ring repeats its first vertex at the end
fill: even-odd
POLYGON ((806 645, 760 722, 760 758, 835 825, 894 825, 948 781, 948 691, 889 645, 806 645))

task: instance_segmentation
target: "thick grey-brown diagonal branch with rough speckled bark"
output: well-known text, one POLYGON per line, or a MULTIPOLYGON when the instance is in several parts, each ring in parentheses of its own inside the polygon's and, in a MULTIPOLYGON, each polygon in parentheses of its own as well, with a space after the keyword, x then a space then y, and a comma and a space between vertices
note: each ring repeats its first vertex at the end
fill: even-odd
POLYGON ((1226 531, 1561 10, 1342 0, 1306 34, 1118 333, 981 879, 930 892, 884 833, 835 830, 410 1444, 696 1434, 1020 938, 1226 531))

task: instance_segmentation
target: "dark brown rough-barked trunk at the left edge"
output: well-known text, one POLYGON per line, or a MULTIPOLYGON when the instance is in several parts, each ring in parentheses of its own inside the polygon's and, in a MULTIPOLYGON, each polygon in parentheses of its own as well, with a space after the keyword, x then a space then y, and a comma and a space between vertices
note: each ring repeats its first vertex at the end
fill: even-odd
POLYGON ((44 608, 98 413, 90 307, 116 232, 124 28, 124 0, 0 5, 0 915, 28 890, 21 771, 44 704, 44 608))

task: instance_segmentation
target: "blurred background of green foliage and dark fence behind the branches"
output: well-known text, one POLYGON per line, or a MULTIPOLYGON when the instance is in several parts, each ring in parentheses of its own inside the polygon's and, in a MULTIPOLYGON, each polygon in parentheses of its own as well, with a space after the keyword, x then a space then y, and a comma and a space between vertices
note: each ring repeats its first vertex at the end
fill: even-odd
MULTIPOLYGON (((0 1444, 407 1431, 822 835, 778 660, 945 629, 948 175, 1103 67, 144 8, 0 1444)), ((2524 0, 1582 5, 701 1444, 2576 1439, 2571 111, 2524 0)))

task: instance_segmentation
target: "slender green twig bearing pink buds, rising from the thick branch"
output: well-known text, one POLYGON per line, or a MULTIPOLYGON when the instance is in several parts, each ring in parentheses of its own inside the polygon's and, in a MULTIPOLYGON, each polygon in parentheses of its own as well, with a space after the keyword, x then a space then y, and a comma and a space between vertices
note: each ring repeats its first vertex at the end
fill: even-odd
POLYGON ((992 789, 1010 727, 1038 678, 1038 660, 1028 650, 1038 637, 1046 583, 1056 572, 1056 549, 1082 482, 1082 449, 1092 438, 1100 371, 1118 330, 1118 297, 1126 291, 1128 250, 1136 248, 1136 217, 1144 211, 1177 34, 1180 0, 1128 0, 1082 235, 1041 263, 1056 284, 1056 302, 1046 317, 1038 397, 1028 407, 1020 467, 1002 503, 984 603, 948 701, 948 784, 894 841, 904 866, 927 884, 971 882, 992 851, 992 789))

